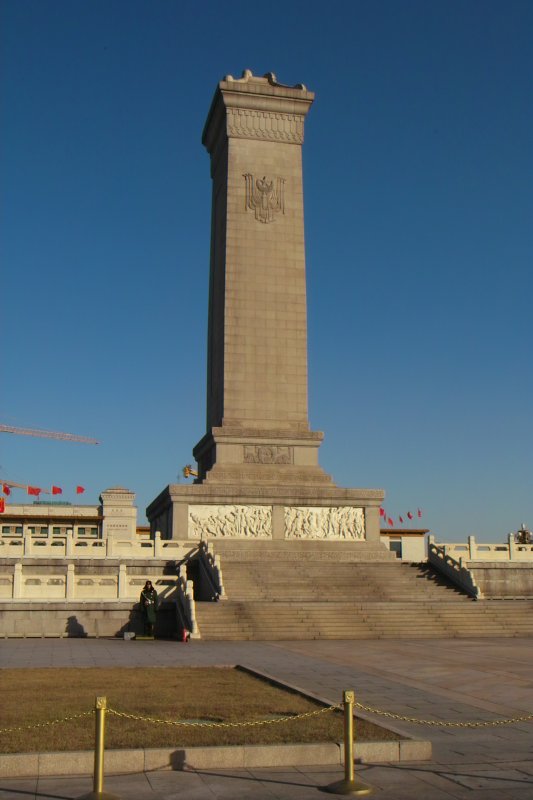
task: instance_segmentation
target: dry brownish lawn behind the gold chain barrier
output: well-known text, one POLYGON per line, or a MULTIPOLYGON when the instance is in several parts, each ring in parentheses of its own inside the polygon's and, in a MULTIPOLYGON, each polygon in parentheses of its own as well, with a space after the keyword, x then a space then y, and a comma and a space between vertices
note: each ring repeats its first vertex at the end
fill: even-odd
MULTIPOLYGON (((316 711, 320 704, 284 691, 238 669, 218 668, 48 668, 5 669, 2 728, 36 725, 94 708, 107 697, 116 711, 163 720, 245 722, 316 711)), ((342 712, 253 728, 158 725, 106 715, 106 748, 275 744, 341 741, 342 712)), ((364 720, 356 738, 383 741, 398 736, 364 720)), ((1 753, 91 750, 94 717, 29 731, 0 733, 1 753)))

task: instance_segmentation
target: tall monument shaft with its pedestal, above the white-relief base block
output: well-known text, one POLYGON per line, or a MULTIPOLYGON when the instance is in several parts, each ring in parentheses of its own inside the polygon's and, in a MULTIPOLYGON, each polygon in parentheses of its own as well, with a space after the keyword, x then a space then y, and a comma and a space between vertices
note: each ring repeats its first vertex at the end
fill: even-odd
POLYGON ((314 95, 246 71, 219 83, 204 129, 213 180, 207 434, 201 479, 330 483, 307 416, 302 188, 314 95), (297 469, 295 469, 297 468, 297 469))

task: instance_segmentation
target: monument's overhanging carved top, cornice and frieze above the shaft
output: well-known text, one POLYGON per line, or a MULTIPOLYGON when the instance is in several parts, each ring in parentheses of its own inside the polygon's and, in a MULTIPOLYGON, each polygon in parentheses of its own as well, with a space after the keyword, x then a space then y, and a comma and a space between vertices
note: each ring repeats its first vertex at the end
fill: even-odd
POLYGON ((279 83, 273 72, 264 76, 254 75, 251 70, 244 70, 241 78, 226 75, 215 90, 213 101, 207 115, 202 134, 202 143, 212 153, 220 135, 242 138, 264 138, 286 140, 301 144, 303 141, 303 120, 315 95, 309 92, 303 83, 287 86, 279 83), (239 115, 248 115, 243 122, 239 115), (279 120, 291 120, 289 126, 274 125, 264 130, 259 117, 275 117, 279 120))

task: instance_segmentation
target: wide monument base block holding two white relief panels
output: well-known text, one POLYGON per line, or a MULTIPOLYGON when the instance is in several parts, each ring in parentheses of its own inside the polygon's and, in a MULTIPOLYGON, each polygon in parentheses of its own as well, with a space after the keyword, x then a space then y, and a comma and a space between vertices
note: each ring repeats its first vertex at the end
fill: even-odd
POLYGON ((379 541, 381 489, 171 484, 148 506, 163 539, 379 541))

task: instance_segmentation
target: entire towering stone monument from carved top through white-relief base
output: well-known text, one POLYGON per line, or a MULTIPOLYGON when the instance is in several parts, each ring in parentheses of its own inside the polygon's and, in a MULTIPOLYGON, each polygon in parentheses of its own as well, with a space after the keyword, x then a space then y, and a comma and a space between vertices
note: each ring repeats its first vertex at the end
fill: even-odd
POLYGON ((307 412, 302 188, 314 95, 249 70, 216 89, 203 133, 213 181, 207 431, 198 479, 148 507, 165 538, 379 540, 383 491, 341 489, 307 412))

